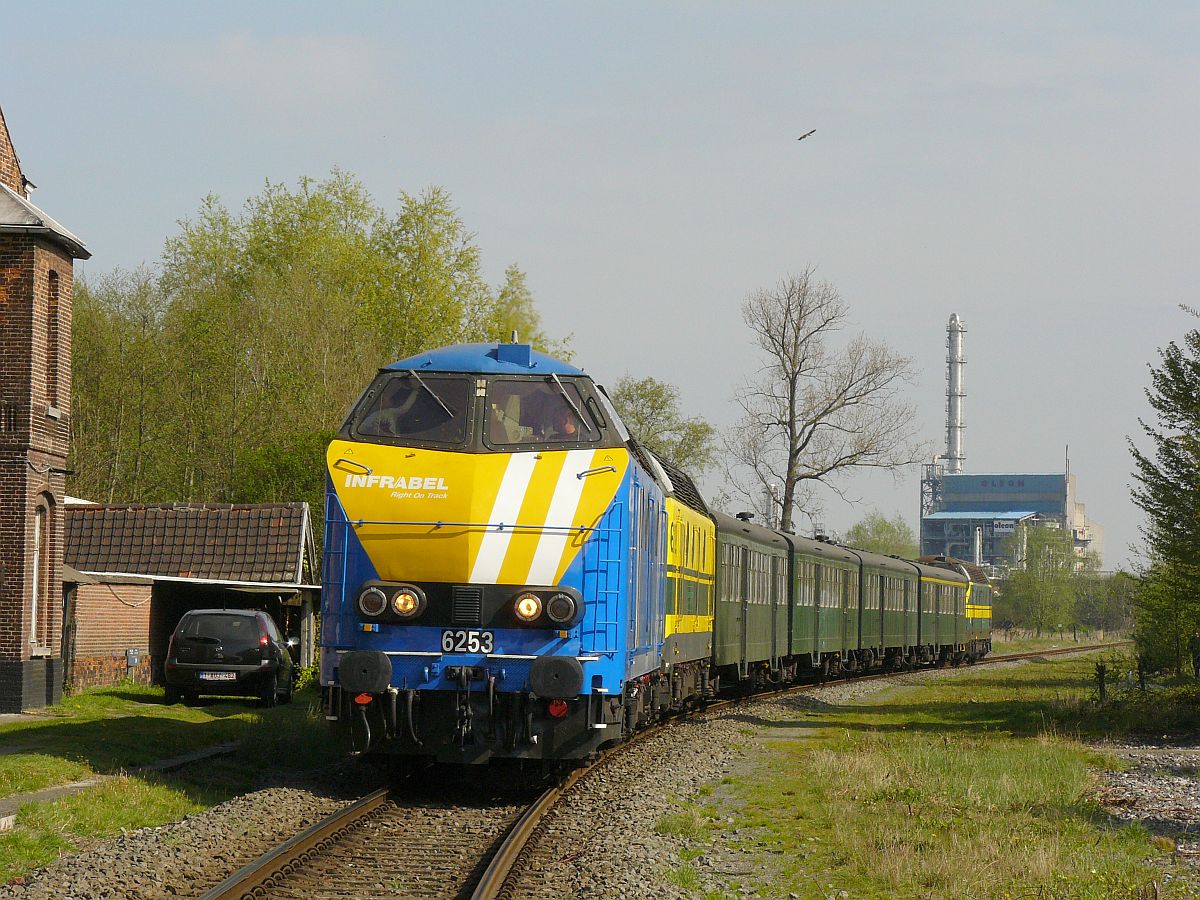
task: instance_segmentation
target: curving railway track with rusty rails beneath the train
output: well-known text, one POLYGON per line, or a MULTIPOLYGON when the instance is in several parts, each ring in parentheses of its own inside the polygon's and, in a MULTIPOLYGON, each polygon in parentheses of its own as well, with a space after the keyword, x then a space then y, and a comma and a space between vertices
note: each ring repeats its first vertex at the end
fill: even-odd
MULTIPOLYGON (((976 665, 1061 656, 1127 646, 1128 641, 1052 650, 989 656, 976 665)), ((926 670, 928 671, 928 670, 926 670)), ((859 676, 864 682, 898 673, 859 676)), ((800 692, 821 684, 802 684, 775 694, 800 692)), ((745 700, 722 700, 719 710, 745 700)), ((281 844, 239 870, 202 900, 234 898, 515 898, 512 875, 522 870, 541 836, 541 826, 556 804, 618 752, 656 733, 670 722, 638 732, 595 762, 571 772, 560 784, 527 803, 512 796, 481 799, 470 785, 425 785, 418 796, 398 790, 376 791, 281 844)))

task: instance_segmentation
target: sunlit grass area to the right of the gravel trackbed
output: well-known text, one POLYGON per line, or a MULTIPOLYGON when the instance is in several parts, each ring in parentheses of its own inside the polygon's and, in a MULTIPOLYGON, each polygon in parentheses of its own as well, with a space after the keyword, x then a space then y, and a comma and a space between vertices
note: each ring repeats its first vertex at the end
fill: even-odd
POLYGON ((798 703, 756 722, 764 762, 704 798, 720 805, 694 841, 749 851, 761 874, 733 893, 1099 900, 1158 880, 1162 896, 1190 896, 1196 883, 1162 882, 1180 874, 1170 839, 1091 799, 1096 770, 1120 764, 1067 736, 1104 730, 1080 715, 1094 662, 979 668, 816 714, 798 703))

